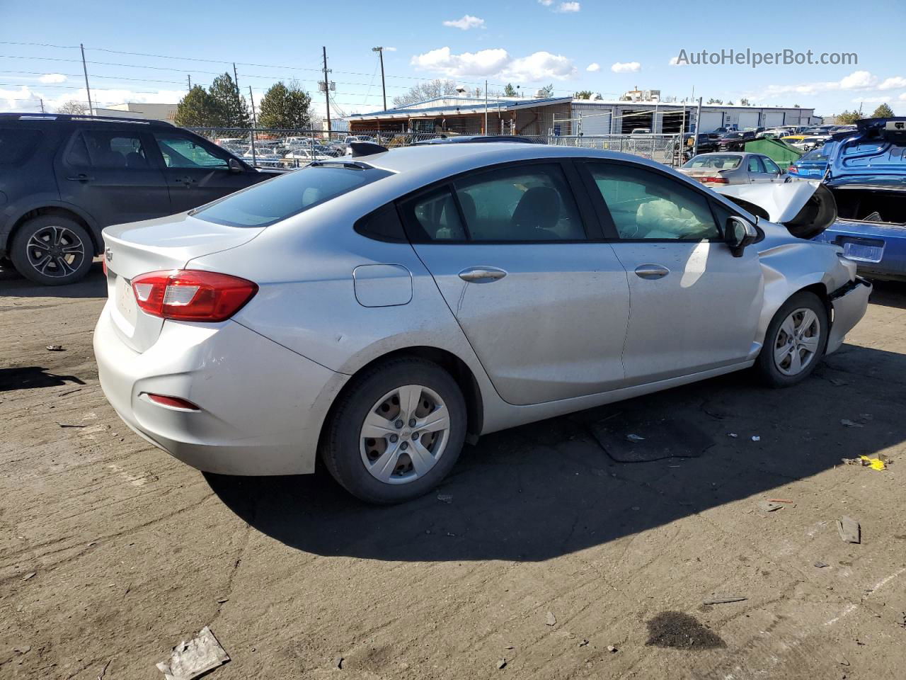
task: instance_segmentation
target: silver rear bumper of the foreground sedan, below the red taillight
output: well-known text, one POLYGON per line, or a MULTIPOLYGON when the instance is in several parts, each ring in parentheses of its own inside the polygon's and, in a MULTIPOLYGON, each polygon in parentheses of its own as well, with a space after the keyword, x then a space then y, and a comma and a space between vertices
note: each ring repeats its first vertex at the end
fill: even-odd
POLYGON ((101 389, 130 428, 193 468, 220 474, 313 472, 323 418, 348 379, 234 321, 167 321, 138 353, 120 339, 107 307, 94 355, 101 389), (154 403, 149 393, 199 410, 154 403))

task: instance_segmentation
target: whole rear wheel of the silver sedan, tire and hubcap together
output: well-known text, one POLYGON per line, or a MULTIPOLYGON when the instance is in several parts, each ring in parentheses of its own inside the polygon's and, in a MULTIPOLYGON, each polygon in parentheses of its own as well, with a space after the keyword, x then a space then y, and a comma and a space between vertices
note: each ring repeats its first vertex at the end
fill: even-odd
POLYGON ((372 503, 416 498, 456 463, 466 403, 439 365, 393 359, 354 378, 333 411, 322 458, 334 479, 372 503))

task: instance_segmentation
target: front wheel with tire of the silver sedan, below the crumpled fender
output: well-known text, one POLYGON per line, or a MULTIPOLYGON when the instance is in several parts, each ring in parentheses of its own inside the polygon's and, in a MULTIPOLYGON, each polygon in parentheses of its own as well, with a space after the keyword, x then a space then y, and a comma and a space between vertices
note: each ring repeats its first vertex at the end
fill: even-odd
POLYGON ((804 380, 824 356, 829 324, 827 309, 814 293, 796 293, 767 326, 756 370, 772 387, 804 380))

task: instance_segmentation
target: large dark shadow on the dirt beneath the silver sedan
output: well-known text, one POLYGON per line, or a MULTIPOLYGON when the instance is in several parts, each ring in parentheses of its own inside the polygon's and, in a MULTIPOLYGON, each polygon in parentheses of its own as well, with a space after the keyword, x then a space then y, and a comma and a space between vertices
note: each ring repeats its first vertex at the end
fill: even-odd
POLYGON ((760 498, 842 458, 903 442, 904 380, 906 356, 843 345, 794 388, 763 388, 743 372, 487 435, 466 448, 436 491, 398 506, 361 503, 320 470, 206 478, 236 515, 294 549, 381 560, 537 561, 760 498), (892 383, 894 374, 903 378, 892 383), (863 426, 843 426, 844 419, 863 426), (621 423, 644 428, 633 433, 657 442, 651 450, 670 449, 677 432, 684 442, 692 432, 695 445, 675 451, 683 457, 618 462, 633 460, 622 453, 640 443, 602 440, 602 427, 613 435, 621 423))

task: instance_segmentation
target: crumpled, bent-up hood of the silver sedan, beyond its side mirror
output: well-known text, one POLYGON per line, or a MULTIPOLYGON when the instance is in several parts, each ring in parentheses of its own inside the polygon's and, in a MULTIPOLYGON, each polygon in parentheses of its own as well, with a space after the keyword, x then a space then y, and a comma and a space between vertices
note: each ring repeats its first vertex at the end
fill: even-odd
POLYGON ((834 194, 817 180, 731 184, 714 190, 753 215, 784 225, 797 238, 814 238, 837 219, 834 194))

